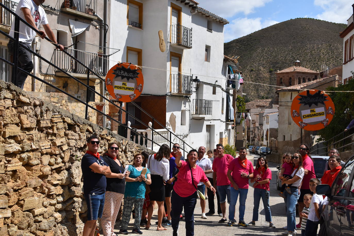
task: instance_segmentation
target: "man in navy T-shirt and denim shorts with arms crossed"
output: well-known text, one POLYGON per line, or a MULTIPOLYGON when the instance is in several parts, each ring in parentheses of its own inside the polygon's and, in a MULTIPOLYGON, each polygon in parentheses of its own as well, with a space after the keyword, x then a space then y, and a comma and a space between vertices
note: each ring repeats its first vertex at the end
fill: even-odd
POLYGON ((87 203, 87 221, 82 236, 93 236, 96 221, 102 218, 105 191, 107 187, 105 175, 111 171, 102 156, 97 152, 99 140, 92 135, 87 139, 86 154, 81 160, 82 176, 84 177, 84 197, 87 203))

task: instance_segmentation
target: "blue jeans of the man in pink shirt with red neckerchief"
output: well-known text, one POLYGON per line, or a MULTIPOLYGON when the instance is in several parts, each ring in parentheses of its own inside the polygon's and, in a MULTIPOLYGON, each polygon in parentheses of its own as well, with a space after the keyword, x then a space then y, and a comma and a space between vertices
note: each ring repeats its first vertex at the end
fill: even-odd
POLYGON ((237 198, 240 195, 240 207, 239 207, 239 220, 244 220, 245 209, 246 209, 246 198, 247 198, 248 189, 239 189, 235 190, 230 188, 231 202, 229 205, 229 220, 235 220, 235 206, 237 198))

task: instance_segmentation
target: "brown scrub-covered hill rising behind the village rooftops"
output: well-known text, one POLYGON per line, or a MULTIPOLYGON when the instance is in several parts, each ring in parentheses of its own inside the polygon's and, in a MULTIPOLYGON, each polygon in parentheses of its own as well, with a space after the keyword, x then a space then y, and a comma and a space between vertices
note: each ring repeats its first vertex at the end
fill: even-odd
MULTIPOLYGON (((224 44, 226 56, 238 59, 245 81, 276 84, 277 70, 299 60, 302 67, 324 70, 323 65, 342 64, 343 39, 347 27, 312 18, 284 21, 224 44)), ((247 99, 273 98, 275 87, 244 84, 247 99)))

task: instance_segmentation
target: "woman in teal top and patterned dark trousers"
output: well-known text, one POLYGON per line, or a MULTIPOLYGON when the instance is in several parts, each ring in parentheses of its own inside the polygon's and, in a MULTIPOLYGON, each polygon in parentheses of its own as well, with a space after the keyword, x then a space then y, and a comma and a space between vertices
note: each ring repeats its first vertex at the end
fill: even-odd
POLYGON ((122 226, 119 230, 121 234, 128 234, 127 228, 133 205, 135 220, 132 233, 143 234, 143 232, 140 231, 140 220, 144 204, 145 185, 151 184, 150 171, 142 166, 143 160, 143 154, 136 154, 133 159, 133 165, 129 165, 126 172, 122 226))

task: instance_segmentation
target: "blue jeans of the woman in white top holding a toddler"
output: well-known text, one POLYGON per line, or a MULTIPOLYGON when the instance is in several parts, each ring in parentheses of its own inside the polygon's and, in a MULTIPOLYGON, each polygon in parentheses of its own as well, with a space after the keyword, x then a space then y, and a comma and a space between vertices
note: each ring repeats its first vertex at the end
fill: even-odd
POLYGON ((290 188, 291 194, 284 192, 284 201, 286 206, 287 230, 294 231, 296 228, 296 202, 298 198, 298 189, 290 188))

